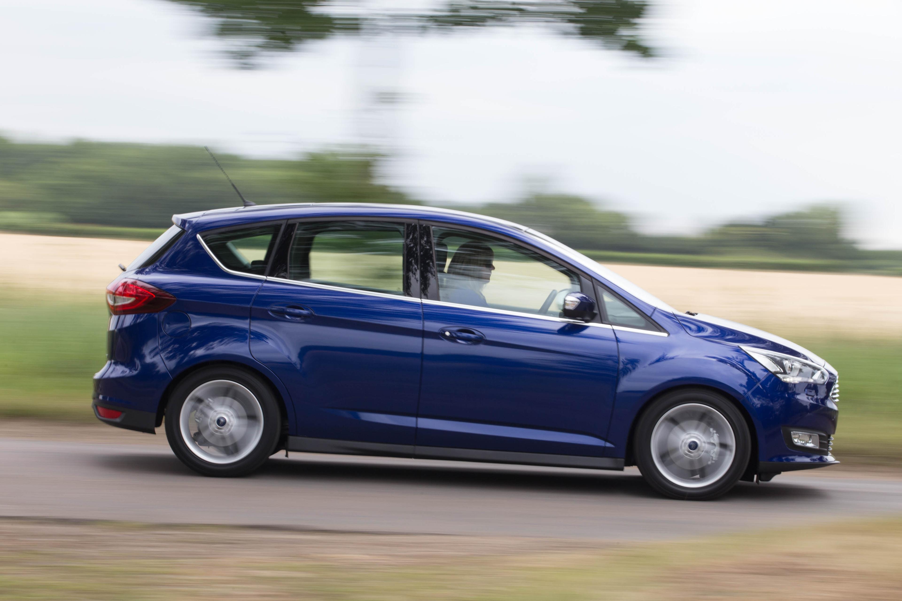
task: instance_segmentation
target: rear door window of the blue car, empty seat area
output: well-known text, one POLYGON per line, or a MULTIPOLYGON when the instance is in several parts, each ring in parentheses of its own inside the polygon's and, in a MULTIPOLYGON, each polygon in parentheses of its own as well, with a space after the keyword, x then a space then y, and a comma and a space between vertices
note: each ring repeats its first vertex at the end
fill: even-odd
POLYGON ((289 251, 289 278, 404 294, 404 224, 366 221, 299 223, 289 251))

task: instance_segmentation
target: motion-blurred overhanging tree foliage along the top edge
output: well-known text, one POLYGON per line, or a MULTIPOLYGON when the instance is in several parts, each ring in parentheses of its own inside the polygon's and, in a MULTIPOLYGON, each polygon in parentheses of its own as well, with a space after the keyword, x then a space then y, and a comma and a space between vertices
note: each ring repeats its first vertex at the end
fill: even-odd
POLYGON ((421 13, 383 11, 335 0, 168 0, 212 19, 211 32, 228 41, 244 68, 261 55, 296 50, 336 35, 382 32, 425 33, 521 24, 548 26, 562 35, 596 41, 642 57, 652 50, 640 41, 638 23, 648 7, 634 0, 474 0, 450 2, 421 13))

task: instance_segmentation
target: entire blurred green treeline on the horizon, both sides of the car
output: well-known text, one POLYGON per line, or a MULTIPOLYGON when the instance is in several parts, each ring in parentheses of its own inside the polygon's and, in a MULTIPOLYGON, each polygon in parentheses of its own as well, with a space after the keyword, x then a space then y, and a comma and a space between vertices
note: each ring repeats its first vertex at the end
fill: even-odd
MULTIPOLYGON (((298 159, 220 159, 257 204, 423 204, 380 182, 386 157, 355 149, 298 159)), ((0 229, 154 238, 172 214, 237 205, 200 147, 0 138, 0 229)), ((450 205, 449 205, 450 206, 450 205)), ((598 260, 695 267, 868 271, 902 275, 902 250, 862 250, 843 235, 842 211, 812 205, 695 236, 637 231, 629 215, 581 196, 531 192, 516 202, 453 205, 522 223, 598 260)))

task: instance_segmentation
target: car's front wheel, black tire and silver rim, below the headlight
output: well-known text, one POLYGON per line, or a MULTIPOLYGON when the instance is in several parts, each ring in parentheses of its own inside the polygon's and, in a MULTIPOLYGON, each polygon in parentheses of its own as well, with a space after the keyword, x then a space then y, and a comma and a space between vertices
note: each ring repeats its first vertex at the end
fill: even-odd
POLYGON ((710 390, 685 388, 658 398, 641 415, 633 453, 642 477, 659 493, 704 501, 723 495, 739 481, 749 464, 751 436, 732 401, 710 390), (681 416, 692 414, 698 416, 694 424, 691 419, 680 421, 681 416), (726 441, 731 435, 733 451, 728 462, 726 441), (714 479, 702 484, 704 478, 714 479))

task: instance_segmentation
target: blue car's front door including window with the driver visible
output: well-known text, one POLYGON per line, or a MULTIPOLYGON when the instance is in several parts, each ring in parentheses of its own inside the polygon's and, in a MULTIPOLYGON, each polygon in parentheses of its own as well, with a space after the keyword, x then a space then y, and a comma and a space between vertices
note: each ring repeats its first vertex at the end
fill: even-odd
POLYGON ((437 226, 432 239, 417 456, 603 457, 617 341, 610 326, 560 316, 584 278, 516 241, 437 226))

